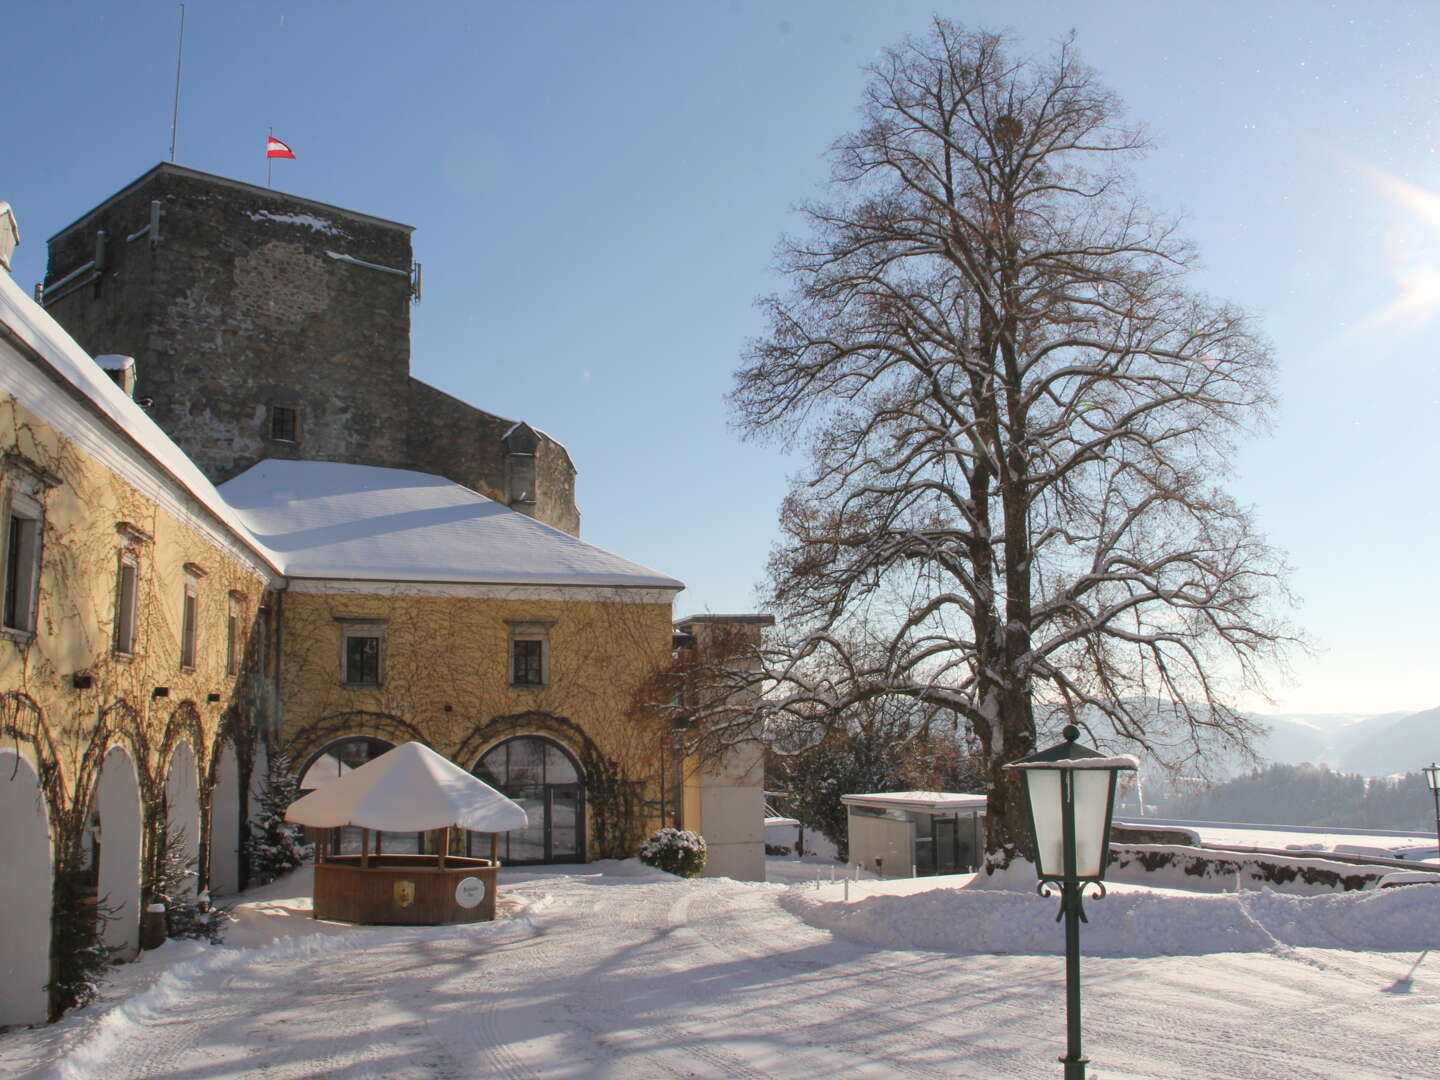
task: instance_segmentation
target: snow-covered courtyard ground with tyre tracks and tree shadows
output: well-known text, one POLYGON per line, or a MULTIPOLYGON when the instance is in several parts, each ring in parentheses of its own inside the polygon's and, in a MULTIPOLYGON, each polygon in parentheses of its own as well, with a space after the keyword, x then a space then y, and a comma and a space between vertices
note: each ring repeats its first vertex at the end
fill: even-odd
MULTIPOLYGON (((297 874, 246 897, 236 948, 170 943, 104 1004, 0 1035, 0 1074, 1058 1076, 1054 900, 927 878, 845 903, 821 870, 507 871, 507 917, 432 929, 315 923, 297 874)), ((1119 887, 1087 909, 1093 1077, 1440 1077, 1440 887, 1119 887)))

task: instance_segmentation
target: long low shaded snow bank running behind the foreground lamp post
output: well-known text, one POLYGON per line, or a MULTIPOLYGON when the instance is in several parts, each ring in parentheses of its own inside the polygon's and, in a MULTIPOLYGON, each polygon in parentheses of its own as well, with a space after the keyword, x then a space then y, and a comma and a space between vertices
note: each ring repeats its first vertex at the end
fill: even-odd
MULTIPOLYGON (((812 926, 893 949, 1060 955, 1058 900, 996 888, 818 901, 793 888, 780 903, 812 926)), ((1086 901, 1087 956, 1198 956, 1277 946, 1418 950, 1440 948, 1440 887, 1333 896, 1112 893, 1086 901)))

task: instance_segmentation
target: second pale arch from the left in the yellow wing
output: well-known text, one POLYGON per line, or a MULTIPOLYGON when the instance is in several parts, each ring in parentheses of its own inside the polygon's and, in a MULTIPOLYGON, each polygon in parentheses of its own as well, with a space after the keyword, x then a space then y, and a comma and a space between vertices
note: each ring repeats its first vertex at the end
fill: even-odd
POLYGON ((101 759, 94 811, 95 893, 114 910, 101 935, 121 958, 132 959, 140 949, 140 783, 122 746, 101 759))

